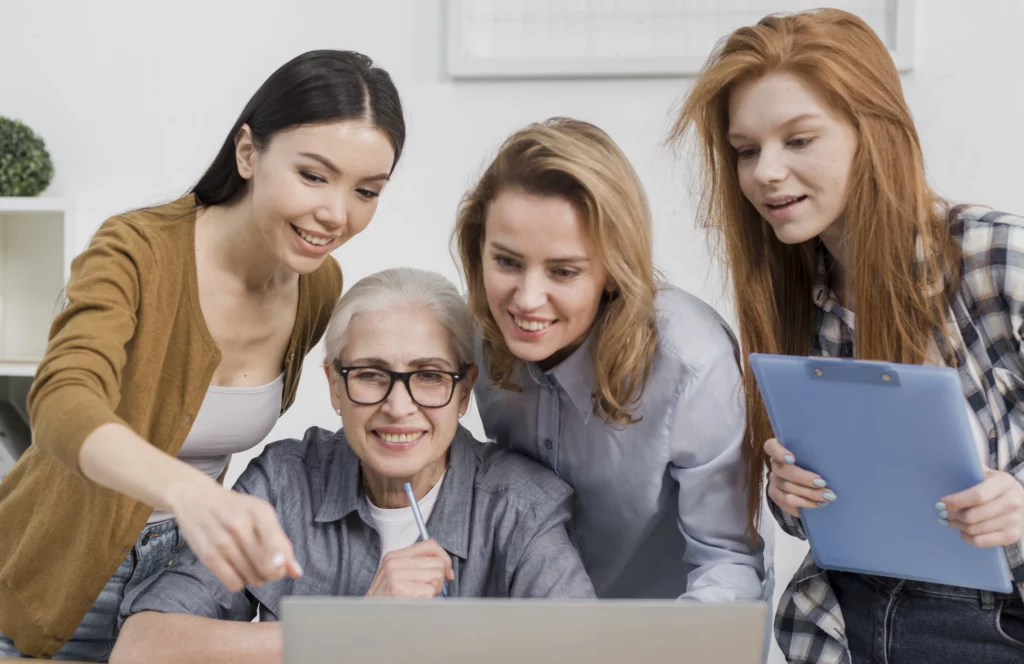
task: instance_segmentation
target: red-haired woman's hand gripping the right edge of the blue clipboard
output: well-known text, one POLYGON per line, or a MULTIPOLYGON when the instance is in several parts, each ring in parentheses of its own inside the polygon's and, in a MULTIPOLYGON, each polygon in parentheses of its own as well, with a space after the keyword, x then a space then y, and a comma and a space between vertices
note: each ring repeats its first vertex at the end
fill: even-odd
POLYGON ((1009 472, 985 468, 985 480, 935 505, 939 521, 979 548, 1008 546, 1024 537, 1024 485, 1009 472))

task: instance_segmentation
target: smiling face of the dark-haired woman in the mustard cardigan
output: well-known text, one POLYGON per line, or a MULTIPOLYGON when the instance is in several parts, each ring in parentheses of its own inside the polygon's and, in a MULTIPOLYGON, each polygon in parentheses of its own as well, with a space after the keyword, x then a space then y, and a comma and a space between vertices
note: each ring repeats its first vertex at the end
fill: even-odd
POLYGON ((367 227, 394 163, 387 134, 361 120, 287 129, 263 150, 243 127, 236 142, 261 243, 297 274, 367 227))

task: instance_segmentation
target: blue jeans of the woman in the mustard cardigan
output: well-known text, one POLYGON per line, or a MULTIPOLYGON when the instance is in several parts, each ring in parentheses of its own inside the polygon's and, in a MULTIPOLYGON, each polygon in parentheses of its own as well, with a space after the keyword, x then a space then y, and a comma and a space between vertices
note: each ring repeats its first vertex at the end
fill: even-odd
MULTIPOLYGON (((96 597, 78 629, 53 655, 55 660, 105 662, 114 650, 118 632, 118 612, 125 594, 147 578, 174 565, 184 541, 173 518, 147 526, 121 567, 96 597)), ((13 641, 0 634, 0 658, 22 657, 13 641)))

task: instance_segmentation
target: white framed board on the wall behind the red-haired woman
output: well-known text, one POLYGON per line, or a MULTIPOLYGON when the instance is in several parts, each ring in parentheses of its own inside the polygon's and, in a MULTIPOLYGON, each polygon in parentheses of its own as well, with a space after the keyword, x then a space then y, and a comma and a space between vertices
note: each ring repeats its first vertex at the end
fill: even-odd
MULTIPOLYGON (((831 0, 864 18, 901 72, 913 65, 915 0, 831 0)), ((759 0, 446 0, 453 79, 692 76, 715 44, 766 13, 759 0)), ((774 0, 772 11, 820 7, 774 0)))

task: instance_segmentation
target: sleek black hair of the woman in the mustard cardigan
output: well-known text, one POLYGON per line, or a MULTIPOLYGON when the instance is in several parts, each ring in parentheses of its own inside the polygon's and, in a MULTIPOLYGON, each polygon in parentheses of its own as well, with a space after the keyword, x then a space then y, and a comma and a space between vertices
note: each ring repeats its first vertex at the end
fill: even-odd
POLYGON ((270 75, 236 120, 213 163, 191 189, 203 206, 231 200, 246 180, 234 161, 234 137, 249 125, 262 150, 275 133, 299 125, 362 119, 382 129, 394 149, 394 166, 406 142, 406 120, 391 76, 355 51, 314 50, 270 75))

